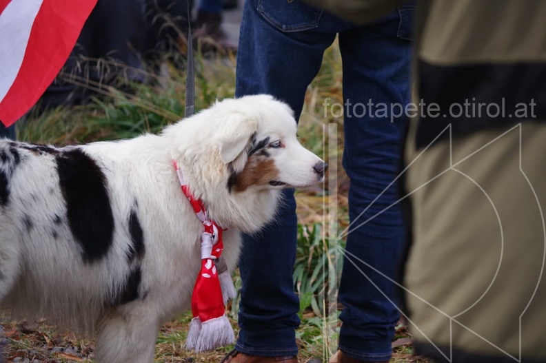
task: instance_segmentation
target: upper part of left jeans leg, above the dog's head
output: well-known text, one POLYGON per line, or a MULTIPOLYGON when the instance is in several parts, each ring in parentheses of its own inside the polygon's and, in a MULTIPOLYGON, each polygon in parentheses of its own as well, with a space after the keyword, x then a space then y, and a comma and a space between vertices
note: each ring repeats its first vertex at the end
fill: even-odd
MULTIPOLYGON (((238 97, 272 94, 292 107, 297 120, 307 86, 319 72, 324 51, 336 37, 336 31, 331 29, 334 21, 324 14, 323 18, 327 19, 321 19, 319 28, 283 32, 258 12, 258 2, 245 1, 237 52, 235 94, 238 97), (322 23, 330 29, 321 28, 322 23)), ((284 10, 282 5, 272 7, 278 7, 272 12, 291 11, 293 17, 298 11, 308 10, 289 6, 288 10, 284 10)))

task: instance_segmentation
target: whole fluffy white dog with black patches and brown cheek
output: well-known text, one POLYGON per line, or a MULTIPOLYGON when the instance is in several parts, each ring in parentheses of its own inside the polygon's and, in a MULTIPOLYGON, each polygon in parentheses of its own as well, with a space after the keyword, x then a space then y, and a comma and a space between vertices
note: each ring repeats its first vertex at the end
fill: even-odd
POLYGON ((296 138, 271 96, 216 103, 159 135, 53 147, 0 141, 0 305, 97 335, 101 363, 153 362, 163 322, 190 307, 203 224, 173 160, 224 233, 274 218, 284 187, 327 165, 296 138))

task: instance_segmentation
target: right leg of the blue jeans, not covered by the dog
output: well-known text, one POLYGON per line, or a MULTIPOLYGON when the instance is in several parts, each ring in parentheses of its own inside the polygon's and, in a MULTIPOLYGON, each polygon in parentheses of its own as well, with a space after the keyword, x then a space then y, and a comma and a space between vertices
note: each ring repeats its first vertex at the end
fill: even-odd
MULTIPOLYGON (((396 183, 388 186, 397 176, 406 121, 391 118, 388 111, 376 113, 368 103, 383 103, 390 110, 394 103, 410 102, 411 42, 397 37, 399 23, 396 12, 339 37, 347 106, 343 165, 350 177, 352 222, 346 249, 393 280, 398 276, 405 232, 399 205, 387 209, 398 199, 396 183)), ((368 361, 390 359, 399 316, 396 293, 390 280, 345 257, 338 298, 345 306, 339 346, 346 355, 368 361)))

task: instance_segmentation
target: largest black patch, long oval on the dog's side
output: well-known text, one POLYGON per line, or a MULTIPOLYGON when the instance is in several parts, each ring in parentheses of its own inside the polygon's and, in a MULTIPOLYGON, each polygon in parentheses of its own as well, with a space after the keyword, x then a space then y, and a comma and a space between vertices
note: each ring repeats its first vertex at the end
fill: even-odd
POLYGON ((81 149, 63 152, 56 160, 68 226, 83 248, 83 260, 100 260, 112 246, 114 234, 105 176, 81 149))

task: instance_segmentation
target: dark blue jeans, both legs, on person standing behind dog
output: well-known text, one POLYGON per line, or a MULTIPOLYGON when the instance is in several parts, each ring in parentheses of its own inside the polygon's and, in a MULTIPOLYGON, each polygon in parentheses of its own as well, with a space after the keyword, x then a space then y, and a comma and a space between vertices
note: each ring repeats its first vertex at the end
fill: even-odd
MULTIPOLYGON (((412 6, 401 6, 376 23, 356 26, 298 0, 247 0, 237 54, 236 96, 272 94, 287 102, 299 118, 307 85, 321 68, 323 52, 339 34, 345 100, 352 105, 365 105, 368 100, 375 105, 406 105, 410 101, 412 10, 412 6)), ((391 120, 390 116, 363 115, 360 106, 345 110, 343 165, 350 177, 351 220, 397 175, 405 118, 391 120)), ((241 331, 236 349, 250 355, 296 355, 298 351, 299 300, 292 280, 295 201, 292 191, 285 191, 285 195, 286 203, 276 222, 260 234, 244 238, 239 265, 243 280, 241 331)), ((397 198, 395 183, 355 226, 397 198)), ((352 231, 347 251, 396 278, 404 236, 401 210, 396 205, 352 231)), ((396 289, 365 265, 357 265, 373 283, 344 261, 338 292, 345 306, 339 348, 360 360, 388 360, 398 310, 383 293, 396 303, 396 289)))

